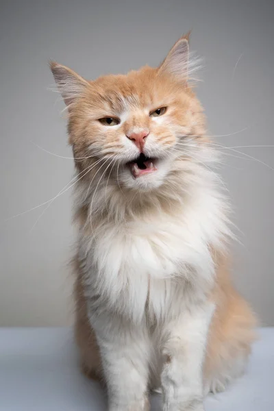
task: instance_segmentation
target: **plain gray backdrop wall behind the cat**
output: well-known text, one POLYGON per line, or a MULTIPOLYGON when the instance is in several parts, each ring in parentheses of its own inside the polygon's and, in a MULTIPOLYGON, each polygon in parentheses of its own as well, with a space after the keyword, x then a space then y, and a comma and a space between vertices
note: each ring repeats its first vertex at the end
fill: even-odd
MULTIPOLYGON (((198 95, 210 132, 247 127, 216 144, 273 145, 273 9, 271 0, 1 1, 0 325, 65 325, 73 316, 71 190, 37 223, 45 206, 6 221, 55 197, 73 173, 73 160, 36 146, 71 156, 64 105, 47 90, 48 60, 90 79, 125 73, 158 64, 192 29, 191 47, 205 57, 198 95)), ((237 150, 274 168, 274 148, 237 150)), ((227 153, 221 174, 241 242, 234 279, 262 323, 274 325, 274 171, 227 153)))

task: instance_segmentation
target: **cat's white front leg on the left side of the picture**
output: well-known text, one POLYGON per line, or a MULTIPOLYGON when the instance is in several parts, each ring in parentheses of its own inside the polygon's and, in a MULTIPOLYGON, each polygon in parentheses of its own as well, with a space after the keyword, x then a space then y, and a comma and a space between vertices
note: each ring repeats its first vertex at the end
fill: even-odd
POLYGON ((104 322, 97 333, 108 411, 149 411, 149 343, 144 327, 104 322))

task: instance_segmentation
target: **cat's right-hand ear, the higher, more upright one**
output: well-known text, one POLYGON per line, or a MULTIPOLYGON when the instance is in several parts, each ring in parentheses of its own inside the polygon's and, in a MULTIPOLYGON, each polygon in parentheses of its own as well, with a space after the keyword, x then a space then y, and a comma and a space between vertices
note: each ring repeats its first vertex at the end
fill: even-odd
POLYGON ((189 34, 175 43, 159 67, 159 71, 177 77, 179 81, 188 79, 189 70, 189 34))

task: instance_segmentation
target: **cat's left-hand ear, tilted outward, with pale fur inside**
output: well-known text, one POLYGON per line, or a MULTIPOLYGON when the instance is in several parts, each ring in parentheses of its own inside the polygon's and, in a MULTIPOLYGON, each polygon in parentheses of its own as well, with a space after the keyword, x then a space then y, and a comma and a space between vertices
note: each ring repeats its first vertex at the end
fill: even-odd
POLYGON ((64 102, 68 106, 73 104, 88 87, 88 82, 66 66, 55 62, 50 62, 49 64, 64 102))

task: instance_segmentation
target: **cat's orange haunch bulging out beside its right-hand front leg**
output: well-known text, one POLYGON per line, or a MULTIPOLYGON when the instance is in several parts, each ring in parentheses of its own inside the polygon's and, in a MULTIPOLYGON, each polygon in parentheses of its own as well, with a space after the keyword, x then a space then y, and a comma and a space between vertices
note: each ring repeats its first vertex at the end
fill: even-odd
MULTIPOLYGON (((204 378, 208 389, 218 391, 229 382, 226 376, 238 358, 248 358, 251 343, 256 339, 257 323, 247 301, 234 288, 229 263, 222 255, 216 261, 216 283, 211 299, 216 304, 216 310, 208 335, 204 378), (223 385, 220 386, 219 382, 215 386, 214 380, 220 380, 220 375, 225 375, 221 378, 223 385)), ((238 376, 237 373, 234 376, 238 376)))

